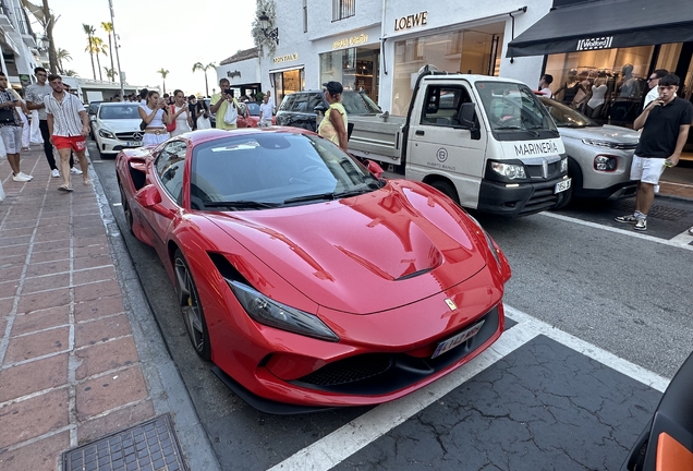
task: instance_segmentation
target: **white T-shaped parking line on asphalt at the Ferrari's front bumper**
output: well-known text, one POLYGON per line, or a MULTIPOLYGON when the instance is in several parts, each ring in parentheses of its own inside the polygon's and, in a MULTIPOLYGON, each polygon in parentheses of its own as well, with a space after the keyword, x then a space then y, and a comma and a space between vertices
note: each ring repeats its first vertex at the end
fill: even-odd
POLYGON ((539 335, 658 391, 664 391, 669 384, 667 378, 656 373, 620 359, 522 311, 506 305, 506 314, 516 321, 518 325, 504 331, 498 341, 464 366, 409 396, 369 410, 268 471, 328 471, 539 335))

